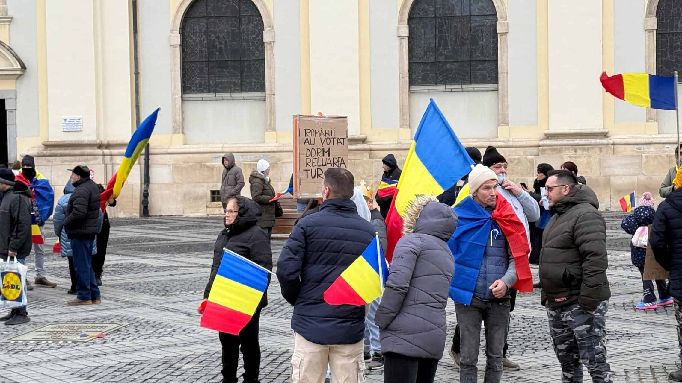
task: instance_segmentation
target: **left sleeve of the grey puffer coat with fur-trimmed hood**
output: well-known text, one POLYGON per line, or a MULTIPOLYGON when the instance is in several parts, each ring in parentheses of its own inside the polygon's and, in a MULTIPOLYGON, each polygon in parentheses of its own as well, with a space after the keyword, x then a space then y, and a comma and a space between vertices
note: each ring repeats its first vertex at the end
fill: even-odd
POLYGON ((416 236, 404 237, 396 245, 391 262, 391 272, 386 281, 386 290, 381 297, 381 304, 376 309, 374 323, 382 330, 391 325, 405 300, 410 280, 421 252, 421 239, 416 236))

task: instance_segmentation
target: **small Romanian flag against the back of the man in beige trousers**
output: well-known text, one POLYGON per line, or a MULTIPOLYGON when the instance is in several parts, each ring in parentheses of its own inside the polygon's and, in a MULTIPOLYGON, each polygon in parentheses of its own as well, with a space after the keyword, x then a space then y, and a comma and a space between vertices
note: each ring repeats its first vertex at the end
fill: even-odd
POLYGON ((357 260, 325 291, 329 305, 368 305, 383 294, 388 264, 379 244, 379 234, 357 260))

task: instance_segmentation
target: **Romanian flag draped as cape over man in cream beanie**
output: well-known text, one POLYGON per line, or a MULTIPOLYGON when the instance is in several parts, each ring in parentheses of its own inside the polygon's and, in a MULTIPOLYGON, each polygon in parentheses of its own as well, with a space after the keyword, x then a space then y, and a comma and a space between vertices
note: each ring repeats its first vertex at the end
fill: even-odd
POLYGON ((520 292, 533 292, 533 277, 528 263, 531 248, 526 230, 514 212, 514 207, 498 193, 495 209, 490 214, 471 196, 464 198, 453 210, 459 221, 454 234, 447 241, 455 258, 455 275, 450 284, 452 300, 464 305, 471 304, 493 221, 507 238, 516 262, 518 281, 511 288, 520 292))

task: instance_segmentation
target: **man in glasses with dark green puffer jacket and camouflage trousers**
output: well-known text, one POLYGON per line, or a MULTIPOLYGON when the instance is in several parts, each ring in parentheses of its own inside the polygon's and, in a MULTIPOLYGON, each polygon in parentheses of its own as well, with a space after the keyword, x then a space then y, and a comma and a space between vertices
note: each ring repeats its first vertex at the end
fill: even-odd
POLYGON ((606 222, 597 195, 567 170, 552 170, 545 196, 554 216, 545 227, 539 276, 563 382, 613 382, 606 362, 606 222))

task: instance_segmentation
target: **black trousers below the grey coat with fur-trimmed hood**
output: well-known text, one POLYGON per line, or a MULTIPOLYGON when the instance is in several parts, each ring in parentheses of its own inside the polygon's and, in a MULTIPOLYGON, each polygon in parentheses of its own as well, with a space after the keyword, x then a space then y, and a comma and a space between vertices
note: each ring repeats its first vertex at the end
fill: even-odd
POLYGON ((433 383, 438 359, 384 354, 384 383, 433 383))

